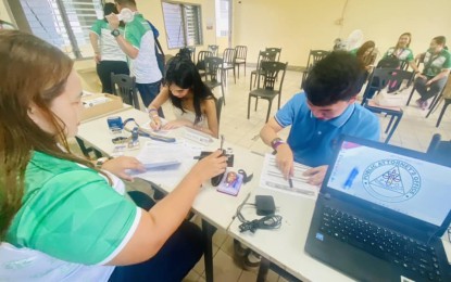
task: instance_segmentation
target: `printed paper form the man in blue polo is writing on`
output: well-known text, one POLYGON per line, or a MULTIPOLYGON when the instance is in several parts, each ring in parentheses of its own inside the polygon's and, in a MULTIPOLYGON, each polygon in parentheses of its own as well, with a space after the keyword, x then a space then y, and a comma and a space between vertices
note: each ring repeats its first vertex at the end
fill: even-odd
POLYGON ((276 156, 266 154, 260 177, 260 185, 271 190, 316 198, 318 188, 306 183, 308 178, 302 175, 309 168, 308 166, 295 163, 295 174, 291 177, 292 188, 290 188, 289 181, 284 178, 276 166, 276 156))

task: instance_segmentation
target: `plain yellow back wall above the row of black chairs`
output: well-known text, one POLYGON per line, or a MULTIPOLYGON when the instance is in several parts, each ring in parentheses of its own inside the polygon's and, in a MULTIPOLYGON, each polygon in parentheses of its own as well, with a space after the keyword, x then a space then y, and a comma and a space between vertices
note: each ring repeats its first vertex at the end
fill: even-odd
POLYGON ((280 47, 281 61, 302 66, 311 49, 330 50, 337 37, 347 38, 354 29, 363 31, 365 41, 374 40, 381 53, 404 31, 413 35, 415 54, 435 36, 451 42, 449 0, 233 1, 233 42, 248 46, 249 62, 256 62, 265 47, 280 47))

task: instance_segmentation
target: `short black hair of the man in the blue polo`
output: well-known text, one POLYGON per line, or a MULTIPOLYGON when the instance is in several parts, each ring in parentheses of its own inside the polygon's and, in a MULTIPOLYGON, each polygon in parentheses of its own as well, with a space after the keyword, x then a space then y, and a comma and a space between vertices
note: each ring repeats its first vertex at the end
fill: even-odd
POLYGON ((306 99, 316 106, 349 101, 362 89, 363 77, 363 70, 354 55, 334 51, 309 72, 304 87, 306 99))

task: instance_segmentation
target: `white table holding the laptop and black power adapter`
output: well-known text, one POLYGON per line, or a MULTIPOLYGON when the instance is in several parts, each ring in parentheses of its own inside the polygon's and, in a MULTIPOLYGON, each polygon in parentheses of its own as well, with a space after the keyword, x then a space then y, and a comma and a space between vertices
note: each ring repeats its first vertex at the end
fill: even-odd
MULTIPOLYGON (((265 259, 293 277, 304 281, 350 281, 347 275, 315 260, 304 252, 315 201, 299 195, 277 192, 270 189, 255 189, 248 203, 254 203, 255 194, 272 195, 276 204, 276 215, 283 217, 279 229, 256 230, 240 233, 241 222, 235 219, 229 234, 251 247, 265 259)), ((241 214, 247 220, 260 218, 253 206, 245 205, 241 214)), ((260 274, 260 273, 259 273, 260 274)))

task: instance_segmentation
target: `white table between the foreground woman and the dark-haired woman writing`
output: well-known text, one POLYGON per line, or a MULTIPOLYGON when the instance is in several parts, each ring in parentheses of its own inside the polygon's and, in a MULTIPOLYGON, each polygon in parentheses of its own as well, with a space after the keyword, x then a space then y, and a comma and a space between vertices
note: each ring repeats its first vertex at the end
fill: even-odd
MULTIPOLYGON (((112 116, 121 116, 123 120, 126 118, 135 118, 139 125, 143 125, 149 121, 148 114, 137 111, 135 108, 128 108, 121 113, 113 114, 112 116)), ((78 128, 77 137, 83 139, 86 142, 89 142, 97 150, 102 152, 105 155, 111 155, 114 149, 114 144, 111 141, 114 136, 110 134, 108 128, 109 116, 99 117, 97 119, 83 123, 78 128)), ((174 130, 171 134, 180 138, 180 130, 174 130)), ((149 139, 139 137, 141 145, 149 139)), ((187 141, 190 142, 190 141, 187 141)), ((218 140, 214 141, 205 148, 205 151, 214 151, 220 148, 218 140)), ((236 214, 237 207, 245 201, 246 196, 259 184, 260 171, 263 164, 263 156, 253 154, 249 150, 242 149, 240 146, 233 145, 225 142, 224 149, 230 148, 235 155, 234 170, 245 169, 245 171, 250 175, 253 174, 254 177, 252 181, 241 187, 240 192, 237 196, 230 196, 224 193, 217 192, 210 183, 204 183, 202 190, 197 196, 192 208, 193 210, 202 217, 202 230, 205 235, 206 246, 205 246, 205 278, 206 281, 213 280, 213 254, 212 254, 212 235, 216 228, 227 230, 229 225, 233 221, 233 217, 236 214)), ((126 155, 136 155, 139 153, 139 150, 136 151, 126 151, 126 155)), ((195 164, 196 161, 192 162, 195 164)), ((180 171, 177 175, 178 179, 172 179, 171 182, 178 182, 185 176, 186 171, 180 171)), ((163 190, 163 192, 171 192, 175 188, 174 185, 168 185, 164 179, 161 178, 142 178, 147 181, 150 181, 156 184, 163 190)))

